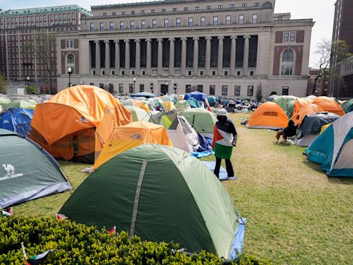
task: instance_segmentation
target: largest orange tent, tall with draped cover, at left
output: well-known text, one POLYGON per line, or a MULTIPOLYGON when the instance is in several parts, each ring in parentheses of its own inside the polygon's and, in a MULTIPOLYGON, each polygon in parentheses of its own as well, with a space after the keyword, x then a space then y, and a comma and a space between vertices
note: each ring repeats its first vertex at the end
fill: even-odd
POLYGON ((114 126, 131 121, 131 112, 109 92, 72 86, 37 105, 30 137, 54 157, 93 163, 114 126))

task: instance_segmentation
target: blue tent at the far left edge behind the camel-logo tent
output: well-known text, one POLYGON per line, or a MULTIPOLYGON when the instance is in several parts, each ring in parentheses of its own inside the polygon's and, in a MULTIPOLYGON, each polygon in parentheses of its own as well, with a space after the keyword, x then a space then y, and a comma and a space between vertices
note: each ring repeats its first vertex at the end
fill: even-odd
POLYGON ((0 114, 0 128, 27 136, 33 118, 30 108, 11 108, 0 114))

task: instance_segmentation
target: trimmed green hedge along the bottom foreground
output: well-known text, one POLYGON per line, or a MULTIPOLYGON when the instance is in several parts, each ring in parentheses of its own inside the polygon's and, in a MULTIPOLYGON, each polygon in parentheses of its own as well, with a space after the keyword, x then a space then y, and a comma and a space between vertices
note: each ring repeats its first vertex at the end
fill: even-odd
MULTIPOLYGON (((48 217, 0 217, 0 264, 23 264, 21 242, 28 257, 53 249, 43 264, 223 264, 205 251, 188 256, 174 251, 178 244, 129 239, 125 232, 114 236, 94 226, 48 217)), ((242 255, 229 264, 272 263, 242 255)))

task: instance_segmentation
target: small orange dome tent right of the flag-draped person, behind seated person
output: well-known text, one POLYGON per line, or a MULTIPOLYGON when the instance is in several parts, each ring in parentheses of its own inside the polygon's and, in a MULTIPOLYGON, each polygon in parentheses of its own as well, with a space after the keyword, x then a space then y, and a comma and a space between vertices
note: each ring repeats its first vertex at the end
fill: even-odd
POLYGON ((278 129, 288 126, 288 117, 283 109, 274 102, 265 102, 248 119, 248 128, 278 129))

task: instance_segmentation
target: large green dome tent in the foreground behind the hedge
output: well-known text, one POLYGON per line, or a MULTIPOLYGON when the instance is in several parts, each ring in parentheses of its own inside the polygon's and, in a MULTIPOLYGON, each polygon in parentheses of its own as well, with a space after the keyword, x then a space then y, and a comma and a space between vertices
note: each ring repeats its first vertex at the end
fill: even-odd
POLYGON ((225 258, 241 253, 233 243, 243 241, 245 229, 245 219, 207 166, 183 150, 156 144, 112 157, 83 181, 59 213, 74 222, 116 226, 142 240, 175 242, 190 252, 205 250, 225 258))

